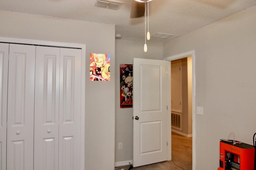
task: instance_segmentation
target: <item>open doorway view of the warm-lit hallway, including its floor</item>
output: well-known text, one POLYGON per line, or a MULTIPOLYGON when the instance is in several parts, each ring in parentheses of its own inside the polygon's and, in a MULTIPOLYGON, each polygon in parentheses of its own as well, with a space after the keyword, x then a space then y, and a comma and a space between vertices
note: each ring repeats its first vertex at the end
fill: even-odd
POLYGON ((192 56, 170 64, 172 161, 192 169, 192 56))

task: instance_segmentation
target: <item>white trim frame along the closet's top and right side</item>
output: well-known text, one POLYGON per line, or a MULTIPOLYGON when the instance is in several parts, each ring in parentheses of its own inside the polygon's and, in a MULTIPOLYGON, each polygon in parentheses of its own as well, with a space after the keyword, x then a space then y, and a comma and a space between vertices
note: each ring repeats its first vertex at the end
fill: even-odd
POLYGON ((44 45, 50 47, 68 47, 81 49, 81 120, 80 120, 80 170, 84 170, 84 159, 85 159, 85 59, 86 59, 86 45, 77 43, 62 43, 62 42, 52 42, 52 41, 41 41, 33 39, 17 39, 17 38, 6 38, 0 37, 0 42, 2 43, 19 43, 28 45, 44 45))

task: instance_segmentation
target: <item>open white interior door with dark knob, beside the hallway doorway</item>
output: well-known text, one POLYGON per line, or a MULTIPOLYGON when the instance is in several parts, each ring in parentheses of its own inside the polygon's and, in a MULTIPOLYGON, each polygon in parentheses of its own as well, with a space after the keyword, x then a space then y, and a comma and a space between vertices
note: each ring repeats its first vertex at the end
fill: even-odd
POLYGON ((167 61, 134 59, 133 166, 167 160, 167 61))

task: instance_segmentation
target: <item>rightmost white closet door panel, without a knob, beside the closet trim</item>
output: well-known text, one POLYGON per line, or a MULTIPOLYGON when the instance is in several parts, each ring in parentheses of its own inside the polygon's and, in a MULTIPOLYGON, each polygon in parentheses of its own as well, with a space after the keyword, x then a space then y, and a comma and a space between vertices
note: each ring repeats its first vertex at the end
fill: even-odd
POLYGON ((80 169, 81 50, 60 50, 59 168, 80 169))

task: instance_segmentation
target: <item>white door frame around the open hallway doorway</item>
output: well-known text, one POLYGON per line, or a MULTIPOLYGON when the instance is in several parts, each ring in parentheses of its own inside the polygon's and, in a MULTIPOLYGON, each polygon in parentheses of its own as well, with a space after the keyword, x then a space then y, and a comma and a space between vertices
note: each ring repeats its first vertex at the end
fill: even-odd
MULTIPOLYGON (((170 57, 166 57, 164 58, 164 60, 166 61, 173 61, 173 60, 177 60, 177 59, 182 59, 182 58, 186 58, 186 57, 190 57, 192 56, 192 170, 196 169, 196 59, 195 59, 195 51, 188 51, 185 53, 181 53, 181 54, 177 54, 177 55, 172 55, 170 57)), ((170 78, 171 78, 171 70, 168 68, 168 87, 171 86, 170 84, 170 78)), ((170 88, 168 88, 168 93, 170 94, 170 88)), ((168 99, 169 103, 171 101, 171 99, 168 99)), ((172 128, 171 128, 171 108, 168 106, 168 115, 167 115, 167 126, 168 126, 168 130, 167 130, 167 135, 168 135, 168 143, 171 143, 171 134, 172 133, 172 128)), ((171 145, 172 146, 172 145, 171 145)), ((168 160, 172 159, 172 148, 168 147, 168 151, 167 151, 167 157, 168 160)))

